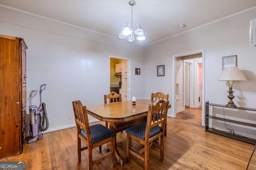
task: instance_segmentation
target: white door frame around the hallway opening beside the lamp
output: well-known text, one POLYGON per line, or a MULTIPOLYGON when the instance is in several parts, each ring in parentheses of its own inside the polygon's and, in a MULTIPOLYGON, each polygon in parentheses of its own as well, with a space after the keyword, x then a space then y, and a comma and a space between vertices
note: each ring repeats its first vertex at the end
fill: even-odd
MULTIPOLYGON (((204 49, 197 50, 197 51, 190 51, 187 53, 177 54, 172 56, 172 94, 176 94, 176 57, 182 57, 186 55, 193 55, 202 53, 202 126, 204 126, 204 49)), ((176 117, 176 95, 171 95, 172 97, 172 107, 171 107, 171 113, 168 114, 170 117, 176 117)))

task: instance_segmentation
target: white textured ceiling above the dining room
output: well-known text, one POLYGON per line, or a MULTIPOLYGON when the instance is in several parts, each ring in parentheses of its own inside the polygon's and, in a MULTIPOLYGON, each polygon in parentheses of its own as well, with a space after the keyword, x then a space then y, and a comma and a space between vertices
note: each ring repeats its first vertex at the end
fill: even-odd
MULTIPOLYGON (((116 37, 131 23, 129 0, 0 0, 0 4, 116 37)), ((133 25, 140 23, 149 45, 200 25, 256 7, 256 0, 136 0, 133 25), (186 27, 179 28, 184 23, 186 27)), ((120 40, 124 41, 124 40, 120 40)))

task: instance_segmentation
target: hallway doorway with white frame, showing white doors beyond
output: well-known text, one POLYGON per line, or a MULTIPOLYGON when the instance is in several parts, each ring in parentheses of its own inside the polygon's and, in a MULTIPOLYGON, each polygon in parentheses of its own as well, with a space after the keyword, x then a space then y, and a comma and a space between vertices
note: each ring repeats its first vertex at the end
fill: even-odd
POLYGON ((171 117, 176 117, 176 113, 180 112, 180 111, 184 111, 185 110, 185 86, 187 86, 187 94, 186 94, 186 105, 189 107, 196 107, 198 108, 200 104, 202 104, 202 126, 204 126, 204 49, 202 50, 198 50, 198 51, 192 51, 192 52, 188 52, 188 53, 183 53, 183 54, 179 54, 179 55, 174 55, 172 57, 172 61, 173 61, 173 79, 172 79, 172 91, 174 92, 174 94, 177 91, 182 91, 183 94, 183 100, 176 100, 175 95, 172 95, 172 113, 169 114, 171 117), (196 57, 197 55, 197 57, 196 57), (196 61, 196 59, 194 58, 198 58, 198 55, 201 57, 201 61, 196 61), (187 60, 186 63, 188 64, 186 69, 186 75, 185 75, 185 62, 184 60, 187 60), (180 72, 179 69, 179 64, 180 61, 184 62, 184 70, 182 72, 182 76, 183 79, 185 79, 185 76, 187 76, 187 80, 185 82, 185 80, 180 80, 180 78, 178 78, 179 76, 177 76, 180 72), (192 64, 193 63, 193 64, 192 64), (201 63, 201 64, 199 64, 201 63), (178 66, 178 67, 177 67, 178 66), (201 70, 201 74, 198 74, 198 71, 201 70), (194 74, 194 72, 197 72, 197 74, 194 74), (184 74, 183 74, 184 73, 184 74), (200 79, 200 81, 198 81, 200 79), (180 82, 179 82, 180 81, 180 82), (181 82, 182 81, 182 82, 181 82), (182 84, 182 86, 180 87, 179 90, 176 89, 175 84, 179 83, 180 86, 182 84), (183 83, 184 82, 184 83, 183 83), (201 83, 200 83, 201 82, 201 83), (185 84, 186 83, 186 84, 185 84), (200 84, 200 88, 199 88, 199 84, 200 84), (196 88, 195 88, 196 87, 196 88), (200 92, 200 89, 201 92, 200 92), (199 98, 200 98, 200 102, 199 102, 199 98), (178 106, 178 104, 180 104, 178 106), (183 105, 183 108, 180 108, 180 106, 183 105))

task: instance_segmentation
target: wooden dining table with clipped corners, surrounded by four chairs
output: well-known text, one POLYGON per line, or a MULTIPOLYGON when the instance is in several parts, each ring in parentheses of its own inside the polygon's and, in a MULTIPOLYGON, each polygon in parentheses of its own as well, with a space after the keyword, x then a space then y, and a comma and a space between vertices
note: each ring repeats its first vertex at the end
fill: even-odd
MULTIPOLYGON (((110 124, 110 129, 115 133, 124 131, 125 129, 143 123, 147 119, 148 107, 154 104, 154 100, 139 99, 136 104, 132 104, 132 100, 122 102, 114 102, 108 104, 98 104, 86 107, 87 113, 96 119, 110 124)), ((171 106, 169 105, 169 108, 171 106)), ((122 157, 118 152, 116 145, 116 158, 123 165, 122 157)))

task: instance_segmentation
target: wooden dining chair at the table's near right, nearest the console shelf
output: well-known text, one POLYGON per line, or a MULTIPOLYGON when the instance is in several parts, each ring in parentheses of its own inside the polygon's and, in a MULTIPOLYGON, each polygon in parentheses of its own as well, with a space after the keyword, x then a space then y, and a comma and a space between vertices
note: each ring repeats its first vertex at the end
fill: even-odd
POLYGON ((164 160, 164 125, 166 122, 169 101, 159 100, 148 107, 147 121, 126 129, 126 159, 130 161, 130 154, 144 161, 145 170, 149 169, 149 147, 155 139, 160 137, 160 159, 164 160), (144 156, 130 148, 131 140, 144 145, 144 156))

